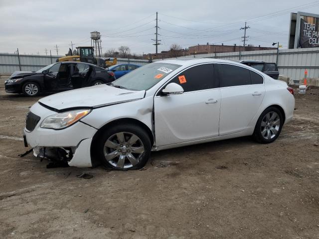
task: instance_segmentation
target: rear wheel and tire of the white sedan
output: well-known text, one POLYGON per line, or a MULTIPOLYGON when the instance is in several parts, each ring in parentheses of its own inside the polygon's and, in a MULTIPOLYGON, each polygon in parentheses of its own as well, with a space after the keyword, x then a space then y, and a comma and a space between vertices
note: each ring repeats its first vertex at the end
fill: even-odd
POLYGON ((259 143, 274 142, 282 129, 283 116, 276 107, 267 108, 257 120, 253 137, 259 143))

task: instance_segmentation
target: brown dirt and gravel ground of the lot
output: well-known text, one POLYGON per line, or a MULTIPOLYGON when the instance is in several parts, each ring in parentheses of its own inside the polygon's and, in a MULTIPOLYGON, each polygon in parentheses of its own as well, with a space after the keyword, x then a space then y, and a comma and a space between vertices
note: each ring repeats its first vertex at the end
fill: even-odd
POLYGON ((38 98, 0 88, 0 238, 319 238, 319 88, 295 98, 272 144, 242 137, 152 152, 146 170, 120 172, 18 157, 38 98))

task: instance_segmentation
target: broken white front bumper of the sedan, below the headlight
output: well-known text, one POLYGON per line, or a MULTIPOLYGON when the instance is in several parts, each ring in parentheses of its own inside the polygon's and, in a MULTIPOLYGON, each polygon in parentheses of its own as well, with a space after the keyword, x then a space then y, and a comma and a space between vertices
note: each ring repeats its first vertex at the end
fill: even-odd
POLYGON ((64 161, 75 167, 92 166, 91 142, 97 132, 96 128, 81 121, 60 130, 41 128, 42 120, 56 113, 39 104, 33 105, 30 111, 41 116, 32 131, 26 128, 23 130, 25 141, 33 148, 34 156, 64 161))

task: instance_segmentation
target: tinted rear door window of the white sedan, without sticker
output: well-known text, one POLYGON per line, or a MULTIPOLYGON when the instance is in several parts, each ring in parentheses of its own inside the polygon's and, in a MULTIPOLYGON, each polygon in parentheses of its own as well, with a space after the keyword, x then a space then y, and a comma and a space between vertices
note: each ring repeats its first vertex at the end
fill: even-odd
POLYGON ((219 64, 220 87, 251 85, 249 70, 230 64, 219 64))

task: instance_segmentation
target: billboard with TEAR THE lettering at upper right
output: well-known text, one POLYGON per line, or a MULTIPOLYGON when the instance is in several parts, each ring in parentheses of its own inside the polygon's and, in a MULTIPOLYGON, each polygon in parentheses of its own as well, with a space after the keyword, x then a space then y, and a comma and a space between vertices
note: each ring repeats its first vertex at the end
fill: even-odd
POLYGON ((297 12, 291 14, 289 48, 319 47, 319 15, 297 12))

